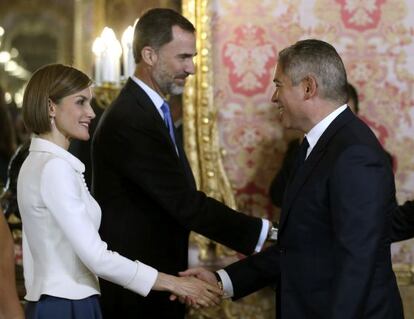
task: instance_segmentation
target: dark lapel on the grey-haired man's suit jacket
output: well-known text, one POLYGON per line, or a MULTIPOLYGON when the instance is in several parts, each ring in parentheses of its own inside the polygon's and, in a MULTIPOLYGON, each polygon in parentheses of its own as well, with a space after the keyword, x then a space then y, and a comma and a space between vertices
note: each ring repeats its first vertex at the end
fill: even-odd
POLYGON ((309 154, 305 163, 296 172, 295 176, 291 176, 291 179, 289 180, 285 190, 285 196, 283 198, 282 213, 279 222, 280 229, 283 228, 292 204, 296 199, 299 191, 308 180, 316 164, 318 164, 322 159, 332 137, 336 134, 336 132, 338 132, 338 130, 340 130, 344 125, 353 119, 355 119, 355 115, 349 108, 345 109, 345 111, 339 114, 338 117, 336 117, 335 120, 333 120, 333 122, 328 126, 325 132, 323 132, 315 147, 312 149, 312 152, 309 154))

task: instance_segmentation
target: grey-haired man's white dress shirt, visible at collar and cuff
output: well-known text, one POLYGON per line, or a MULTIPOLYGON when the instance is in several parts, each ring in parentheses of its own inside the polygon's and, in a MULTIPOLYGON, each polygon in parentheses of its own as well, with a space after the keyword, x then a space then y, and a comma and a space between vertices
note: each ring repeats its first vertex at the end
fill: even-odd
MULTIPOLYGON (((306 152, 306 158, 308 158, 313 148, 315 147, 316 143, 318 143, 320 137, 326 131, 328 126, 333 122, 333 120, 337 118, 339 114, 345 111, 346 108, 347 108, 346 104, 336 108, 333 112, 331 112, 328 116, 326 116, 322 121, 316 124, 307 134, 305 134, 305 137, 309 143, 309 147, 306 152)), ((234 290, 233 290, 233 283, 231 282, 230 276, 227 274, 227 272, 224 269, 218 270, 217 273, 220 276, 221 282, 223 283, 224 298, 233 297, 234 290)))

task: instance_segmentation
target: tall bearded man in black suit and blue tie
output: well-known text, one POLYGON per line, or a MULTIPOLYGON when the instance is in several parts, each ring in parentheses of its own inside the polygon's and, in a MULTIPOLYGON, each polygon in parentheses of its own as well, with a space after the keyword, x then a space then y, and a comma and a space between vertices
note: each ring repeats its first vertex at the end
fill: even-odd
MULTIPOLYGON (((110 249, 158 270, 186 269, 191 230, 244 254, 258 251, 269 222, 238 213, 196 190, 166 105, 194 73, 194 26, 152 9, 134 33, 134 76, 104 112, 92 142, 93 192, 110 249)), ((101 281, 104 318, 183 318, 162 292, 139 297, 101 281)))

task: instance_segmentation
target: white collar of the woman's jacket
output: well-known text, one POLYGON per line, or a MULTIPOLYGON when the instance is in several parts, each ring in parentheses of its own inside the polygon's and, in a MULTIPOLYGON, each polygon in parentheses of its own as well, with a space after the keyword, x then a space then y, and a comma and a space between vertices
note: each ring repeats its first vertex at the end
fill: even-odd
POLYGON ((85 165, 71 153, 69 153, 59 145, 45 140, 43 138, 40 138, 38 136, 32 137, 29 151, 53 154, 67 161, 75 171, 79 173, 83 173, 85 171, 85 165))

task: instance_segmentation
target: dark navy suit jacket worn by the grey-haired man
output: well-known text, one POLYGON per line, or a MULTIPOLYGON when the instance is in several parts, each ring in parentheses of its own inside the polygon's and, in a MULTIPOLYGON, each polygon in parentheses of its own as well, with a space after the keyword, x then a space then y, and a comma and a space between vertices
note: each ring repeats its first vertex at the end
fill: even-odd
POLYGON ((392 271, 392 169, 349 110, 322 134, 286 189, 279 239, 226 268, 235 297, 277 284, 279 319, 401 319, 392 271))

